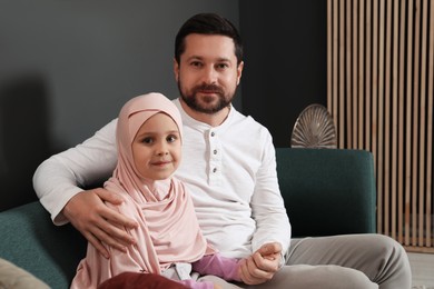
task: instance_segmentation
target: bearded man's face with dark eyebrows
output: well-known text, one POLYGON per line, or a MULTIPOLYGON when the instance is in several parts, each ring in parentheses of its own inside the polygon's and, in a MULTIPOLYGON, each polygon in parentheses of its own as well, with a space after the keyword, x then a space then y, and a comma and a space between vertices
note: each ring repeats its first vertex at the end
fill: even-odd
POLYGON ((237 66, 233 39, 189 34, 185 39, 175 77, 183 100, 195 111, 215 113, 229 106, 243 71, 237 66))

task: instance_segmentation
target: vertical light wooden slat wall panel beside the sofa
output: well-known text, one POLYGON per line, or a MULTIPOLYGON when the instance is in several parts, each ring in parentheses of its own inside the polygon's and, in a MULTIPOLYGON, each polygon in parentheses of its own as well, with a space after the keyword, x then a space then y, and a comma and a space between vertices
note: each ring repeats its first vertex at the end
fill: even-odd
POLYGON ((377 231, 434 252, 434 0, 327 1, 338 147, 374 155, 377 231))

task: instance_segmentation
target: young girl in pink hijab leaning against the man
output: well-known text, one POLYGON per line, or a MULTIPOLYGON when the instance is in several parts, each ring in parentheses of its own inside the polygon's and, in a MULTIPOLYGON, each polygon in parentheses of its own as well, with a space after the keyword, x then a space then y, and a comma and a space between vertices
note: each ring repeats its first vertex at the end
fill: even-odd
POLYGON ((181 159, 183 123, 176 106, 160 93, 129 100, 116 132, 118 165, 105 188, 124 198, 110 206, 138 222, 127 230, 138 242, 126 252, 106 246, 110 259, 88 245, 71 288, 97 288, 122 272, 157 273, 189 288, 213 288, 190 279, 193 270, 239 281, 238 261, 219 256, 200 232, 190 196, 172 178, 181 159))

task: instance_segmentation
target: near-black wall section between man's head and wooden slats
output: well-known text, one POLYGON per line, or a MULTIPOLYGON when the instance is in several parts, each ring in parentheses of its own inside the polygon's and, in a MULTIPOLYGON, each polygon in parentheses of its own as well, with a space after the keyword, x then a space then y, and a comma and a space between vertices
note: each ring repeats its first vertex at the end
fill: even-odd
POLYGON ((240 0, 243 110, 270 130, 276 147, 289 147, 304 108, 326 104, 326 3, 240 0))

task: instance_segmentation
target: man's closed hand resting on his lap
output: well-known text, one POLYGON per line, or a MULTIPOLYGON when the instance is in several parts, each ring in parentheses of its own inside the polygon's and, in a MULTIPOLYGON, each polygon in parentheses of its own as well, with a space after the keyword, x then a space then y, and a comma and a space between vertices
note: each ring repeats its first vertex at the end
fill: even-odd
POLYGON ((278 271, 282 246, 278 242, 266 243, 256 252, 240 261, 239 276, 247 285, 264 283, 278 271))

